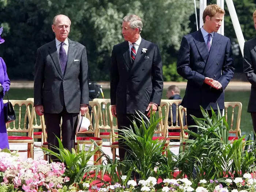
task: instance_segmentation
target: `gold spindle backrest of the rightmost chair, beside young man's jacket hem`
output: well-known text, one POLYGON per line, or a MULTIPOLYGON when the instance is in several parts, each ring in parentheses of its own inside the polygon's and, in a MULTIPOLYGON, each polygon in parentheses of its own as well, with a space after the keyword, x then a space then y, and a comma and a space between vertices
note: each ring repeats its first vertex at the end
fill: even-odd
POLYGON ((224 102, 225 105, 225 118, 229 124, 229 133, 235 133, 238 136, 238 133, 241 136, 241 113, 242 113, 242 103, 241 102, 224 102))

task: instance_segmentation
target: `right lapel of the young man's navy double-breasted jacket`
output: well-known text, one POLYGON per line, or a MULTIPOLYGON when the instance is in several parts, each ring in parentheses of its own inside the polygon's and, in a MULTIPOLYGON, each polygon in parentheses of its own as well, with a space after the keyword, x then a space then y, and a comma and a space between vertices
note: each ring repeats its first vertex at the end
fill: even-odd
POLYGON ((217 58, 217 55, 219 53, 219 48, 221 47, 221 42, 219 41, 218 34, 214 32, 213 38, 212 38, 212 44, 211 44, 211 49, 210 53, 208 56, 207 63, 204 67, 204 74, 211 69, 212 63, 215 61, 217 58))

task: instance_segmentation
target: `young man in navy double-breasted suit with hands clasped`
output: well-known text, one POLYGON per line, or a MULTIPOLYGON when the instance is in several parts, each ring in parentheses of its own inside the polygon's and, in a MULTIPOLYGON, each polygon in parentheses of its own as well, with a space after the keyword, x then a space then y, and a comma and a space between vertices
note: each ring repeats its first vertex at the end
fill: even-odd
MULTIPOLYGON (((182 38, 177 72, 188 80, 181 105, 187 108, 187 124, 195 125, 192 117, 202 117, 206 110, 224 108, 224 90, 234 75, 230 39, 218 34, 225 11, 208 5, 203 12, 203 27, 182 38)), ((197 128, 189 128, 197 132, 197 128)), ((192 139, 193 137, 190 136, 192 139)))

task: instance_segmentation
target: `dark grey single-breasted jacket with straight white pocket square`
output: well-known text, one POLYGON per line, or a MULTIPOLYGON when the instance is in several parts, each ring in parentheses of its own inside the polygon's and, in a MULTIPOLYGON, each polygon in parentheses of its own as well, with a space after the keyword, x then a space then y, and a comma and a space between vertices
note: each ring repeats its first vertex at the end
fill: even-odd
POLYGON ((37 50, 34 105, 45 113, 79 113, 80 103, 88 104, 87 55, 85 46, 68 39, 68 61, 63 75, 55 39, 37 50))

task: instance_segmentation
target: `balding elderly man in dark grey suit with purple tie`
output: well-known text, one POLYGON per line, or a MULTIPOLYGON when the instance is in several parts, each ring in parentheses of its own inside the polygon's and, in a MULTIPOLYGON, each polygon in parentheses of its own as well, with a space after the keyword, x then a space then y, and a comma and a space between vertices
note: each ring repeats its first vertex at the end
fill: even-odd
POLYGON ((68 39, 71 21, 65 15, 53 18, 56 38, 37 50, 35 63, 34 105, 44 114, 49 148, 59 146, 62 118, 62 143, 71 151, 75 145, 74 124, 79 110, 88 110, 87 55, 85 46, 68 39), (55 136, 56 135, 56 136, 55 136))

